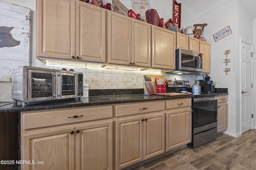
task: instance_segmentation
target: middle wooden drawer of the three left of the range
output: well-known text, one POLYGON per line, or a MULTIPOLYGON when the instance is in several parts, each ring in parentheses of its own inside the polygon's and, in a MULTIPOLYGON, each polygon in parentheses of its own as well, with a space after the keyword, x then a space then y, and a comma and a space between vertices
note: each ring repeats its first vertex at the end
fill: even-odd
POLYGON ((164 109, 164 101, 118 105, 116 106, 116 117, 124 115, 134 115, 138 113, 147 113, 164 109))

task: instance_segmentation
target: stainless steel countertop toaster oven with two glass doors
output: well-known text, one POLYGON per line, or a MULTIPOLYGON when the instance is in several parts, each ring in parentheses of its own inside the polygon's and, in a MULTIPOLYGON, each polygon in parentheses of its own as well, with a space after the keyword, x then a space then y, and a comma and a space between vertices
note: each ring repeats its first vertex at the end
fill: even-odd
POLYGON ((12 99, 30 102, 83 96, 83 73, 23 66, 12 70, 12 99))

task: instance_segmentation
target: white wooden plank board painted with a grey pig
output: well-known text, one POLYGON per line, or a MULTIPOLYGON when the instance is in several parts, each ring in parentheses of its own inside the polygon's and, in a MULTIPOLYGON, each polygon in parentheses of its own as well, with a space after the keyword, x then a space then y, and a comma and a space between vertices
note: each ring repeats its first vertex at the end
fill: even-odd
POLYGON ((11 81, 12 70, 28 66, 31 10, 0 1, 0 81, 11 81))

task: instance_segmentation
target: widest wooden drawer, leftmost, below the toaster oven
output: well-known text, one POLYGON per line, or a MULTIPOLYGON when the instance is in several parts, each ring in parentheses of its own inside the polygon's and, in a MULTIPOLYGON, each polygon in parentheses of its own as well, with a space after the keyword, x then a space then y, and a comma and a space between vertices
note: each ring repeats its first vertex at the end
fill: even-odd
POLYGON ((113 116, 112 106, 90 107, 79 109, 50 109, 39 111, 24 111, 23 129, 63 125, 96 119, 106 119, 113 116), (68 116, 78 116, 71 117, 68 116))

